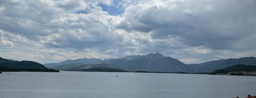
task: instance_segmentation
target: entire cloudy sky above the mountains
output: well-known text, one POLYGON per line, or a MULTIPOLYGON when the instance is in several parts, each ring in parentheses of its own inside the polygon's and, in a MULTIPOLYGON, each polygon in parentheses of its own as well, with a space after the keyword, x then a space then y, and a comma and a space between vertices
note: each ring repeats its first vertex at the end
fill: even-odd
POLYGON ((0 0, 0 57, 256 57, 256 0, 0 0))

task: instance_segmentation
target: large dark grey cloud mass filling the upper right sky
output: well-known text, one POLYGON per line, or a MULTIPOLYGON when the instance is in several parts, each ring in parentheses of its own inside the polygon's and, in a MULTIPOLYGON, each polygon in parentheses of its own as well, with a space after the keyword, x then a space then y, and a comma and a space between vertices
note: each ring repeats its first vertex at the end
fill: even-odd
POLYGON ((180 36, 189 46, 230 49, 237 40, 255 34, 255 1, 149 2, 127 8, 118 28, 151 32, 154 39, 180 36), (194 6, 192 6, 192 4, 194 6), (136 10, 141 7, 142 10, 136 10), (128 24, 129 23, 129 24, 128 24))

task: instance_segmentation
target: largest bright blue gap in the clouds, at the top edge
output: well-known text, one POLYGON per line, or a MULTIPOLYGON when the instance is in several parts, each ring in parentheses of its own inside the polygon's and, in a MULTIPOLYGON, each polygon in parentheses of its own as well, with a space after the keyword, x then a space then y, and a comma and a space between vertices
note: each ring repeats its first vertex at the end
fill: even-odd
POLYGON ((120 15, 123 14, 124 10, 122 6, 119 5, 119 2, 121 0, 114 0, 112 5, 105 5, 102 3, 99 3, 98 6, 102 8, 103 11, 108 12, 110 15, 120 15))

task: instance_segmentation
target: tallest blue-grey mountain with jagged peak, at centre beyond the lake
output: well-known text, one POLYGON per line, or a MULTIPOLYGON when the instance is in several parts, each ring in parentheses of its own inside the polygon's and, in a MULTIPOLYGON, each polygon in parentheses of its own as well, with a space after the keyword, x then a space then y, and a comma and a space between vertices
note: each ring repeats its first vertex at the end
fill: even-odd
POLYGON ((177 59, 163 56, 160 53, 147 55, 126 56, 106 61, 126 71, 153 71, 153 72, 192 72, 193 69, 177 59))

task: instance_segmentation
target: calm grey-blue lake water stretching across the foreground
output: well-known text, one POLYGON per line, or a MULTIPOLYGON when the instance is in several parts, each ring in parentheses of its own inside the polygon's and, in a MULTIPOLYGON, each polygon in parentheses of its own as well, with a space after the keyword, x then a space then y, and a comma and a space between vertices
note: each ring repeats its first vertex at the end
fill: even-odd
POLYGON ((240 98, 256 76, 133 72, 3 72, 0 98, 240 98), (8 74, 10 73, 10 74, 8 74))

